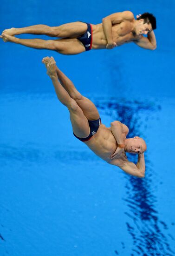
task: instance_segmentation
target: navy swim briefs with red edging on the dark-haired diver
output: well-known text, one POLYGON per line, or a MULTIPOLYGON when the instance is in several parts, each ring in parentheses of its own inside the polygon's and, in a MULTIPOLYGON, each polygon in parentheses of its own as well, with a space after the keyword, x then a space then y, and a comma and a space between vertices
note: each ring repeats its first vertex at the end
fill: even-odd
MULTIPOLYGON (((84 22, 84 23, 86 23, 86 22, 84 22)), ((85 47, 85 50, 89 51, 89 50, 91 50, 91 47, 92 47, 92 25, 89 23, 86 23, 86 24, 88 26, 86 32, 84 34, 82 34, 80 37, 78 37, 77 39, 80 42, 82 42, 82 44, 85 47)))

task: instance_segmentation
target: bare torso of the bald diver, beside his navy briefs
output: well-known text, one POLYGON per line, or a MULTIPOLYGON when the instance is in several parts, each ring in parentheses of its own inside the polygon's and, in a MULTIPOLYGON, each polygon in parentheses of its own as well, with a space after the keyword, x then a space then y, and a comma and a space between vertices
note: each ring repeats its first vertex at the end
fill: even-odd
MULTIPOLYGON (((123 137, 125 140, 126 137, 123 137)), ((111 155, 118 147, 117 141, 111 132, 104 124, 101 124, 97 133, 91 137, 91 140, 84 142, 96 155, 101 157, 104 161, 110 163, 111 155)), ((126 161, 126 158, 121 157, 126 161)))

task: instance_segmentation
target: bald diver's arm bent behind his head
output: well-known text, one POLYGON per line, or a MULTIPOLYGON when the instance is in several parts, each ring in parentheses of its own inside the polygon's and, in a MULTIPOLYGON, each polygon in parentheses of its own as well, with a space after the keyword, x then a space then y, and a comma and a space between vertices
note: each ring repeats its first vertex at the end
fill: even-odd
POLYGON ((123 161, 122 159, 114 159, 110 162, 110 164, 116 165, 127 174, 136 176, 138 178, 144 178, 145 176, 144 153, 138 155, 138 161, 136 164, 127 160, 123 161))

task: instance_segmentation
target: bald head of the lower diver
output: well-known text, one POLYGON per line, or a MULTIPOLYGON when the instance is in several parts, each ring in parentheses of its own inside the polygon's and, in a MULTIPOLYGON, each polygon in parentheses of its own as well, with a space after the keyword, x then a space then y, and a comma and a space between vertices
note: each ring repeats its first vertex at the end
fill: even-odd
POLYGON ((124 148, 126 152, 129 152, 131 154, 142 154, 146 150, 146 146, 143 140, 135 136, 134 138, 127 139, 124 148))

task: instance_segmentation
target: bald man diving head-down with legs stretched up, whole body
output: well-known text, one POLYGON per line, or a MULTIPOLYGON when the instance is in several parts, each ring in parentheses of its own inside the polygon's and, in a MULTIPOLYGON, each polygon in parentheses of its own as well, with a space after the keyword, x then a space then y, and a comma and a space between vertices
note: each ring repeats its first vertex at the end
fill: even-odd
POLYGON ((78 92, 72 81, 58 69, 53 57, 45 57, 42 62, 52 80, 58 100, 69 110, 74 136, 104 161, 118 166, 130 175, 143 178, 145 141, 138 136, 127 139, 129 129, 120 121, 111 122, 111 127, 107 128, 101 123, 93 102, 78 92), (137 154, 137 163, 129 162, 125 152, 137 154))

